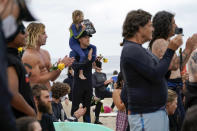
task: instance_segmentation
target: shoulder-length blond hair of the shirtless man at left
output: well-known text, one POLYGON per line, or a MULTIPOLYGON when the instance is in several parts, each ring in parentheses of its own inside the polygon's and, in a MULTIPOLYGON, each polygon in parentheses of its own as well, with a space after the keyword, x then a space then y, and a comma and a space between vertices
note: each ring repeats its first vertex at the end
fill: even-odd
POLYGON ((45 26, 42 23, 30 23, 27 26, 28 36, 26 38, 26 48, 36 48, 36 44, 39 39, 39 35, 44 33, 45 26))

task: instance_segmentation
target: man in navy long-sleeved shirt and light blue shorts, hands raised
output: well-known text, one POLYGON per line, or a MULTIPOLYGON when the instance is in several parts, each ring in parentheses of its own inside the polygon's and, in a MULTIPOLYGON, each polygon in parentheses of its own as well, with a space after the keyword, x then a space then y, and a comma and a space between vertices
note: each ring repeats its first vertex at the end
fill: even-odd
POLYGON ((165 75, 182 37, 175 37, 159 60, 142 47, 152 39, 151 17, 146 11, 134 10, 127 14, 123 24, 120 66, 127 90, 131 131, 168 131, 165 75))

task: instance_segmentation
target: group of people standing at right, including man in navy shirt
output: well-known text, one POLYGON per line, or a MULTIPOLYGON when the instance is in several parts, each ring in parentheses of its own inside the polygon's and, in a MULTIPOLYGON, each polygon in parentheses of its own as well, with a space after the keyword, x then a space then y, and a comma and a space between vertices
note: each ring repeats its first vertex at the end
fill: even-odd
MULTIPOLYGON (((191 104, 191 108, 195 105, 195 96, 190 94, 187 83, 194 87, 195 73, 191 66, 195 66, 197 34, 187 39, 185 50, 177 56, 175 51, 183 41, 182 34, 171 38, 177 28, 174 14, 159 11, 152 21, 151 18, 149 12, 134 10, 127 14, 123 24, 120 69, 124 86, 121 98, 123 102, 127 98, 129 129, 185 130, 184 117, 189 115, 189 112, 185 115, 186 105, 191 104), (149 49, 142 47, 147 41, 150 41, 149 49), (182 80, 186 78, 183 77, 186 74, 181 73, 186 63, 189 64, 189 79, 182 80)), ((194 129, 190 124, 187 130, 194 129)))

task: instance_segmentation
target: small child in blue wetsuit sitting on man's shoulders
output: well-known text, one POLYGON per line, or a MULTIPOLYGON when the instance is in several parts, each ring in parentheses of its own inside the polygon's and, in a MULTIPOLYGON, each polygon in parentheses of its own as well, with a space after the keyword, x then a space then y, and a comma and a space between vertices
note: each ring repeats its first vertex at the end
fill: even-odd
MULTIPOLYGON (((82 51, 80 44, 78 42, 78 38, 86 29, 86 26, 82 24, 84 20, 83 12, 80 10, 75 10, 72 13, 72 19, 73 19, 73 23, 71 24, 70 29, 69 29, 70 30, 69 46, 72 50, 77 52, 78 55, 80 56, 79 62, 83 62, 86 56, 84 52, 82 51)), ((88 48, 92 48, 93 49, 92 55, 96 56, 96 46, 90 44, 88 48)), ((79 78, 82 80, 86 79, 86 77, 83 75, 83 69, 81 69, 79 72, 79 78)))

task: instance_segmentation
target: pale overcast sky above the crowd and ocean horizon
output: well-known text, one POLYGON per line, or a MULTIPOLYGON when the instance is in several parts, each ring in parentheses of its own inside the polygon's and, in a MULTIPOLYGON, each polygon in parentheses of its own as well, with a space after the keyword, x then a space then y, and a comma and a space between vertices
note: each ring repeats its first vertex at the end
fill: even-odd
POLYGON ((70 52, 68 28, 76 9, 82 10, 84 17, 93 22, 97 33, 91 43, 97 46, 97 53, 104 56, 120 55, 122 24, 130 10, 143 9, 152 15, 161 10, 175 13, 177 25, 184 30, 184 41, 197 32, 195 0, 27 0, 27 3, 38 21, 46 26, 48 39, 43 48, 52 58, 70 52))

